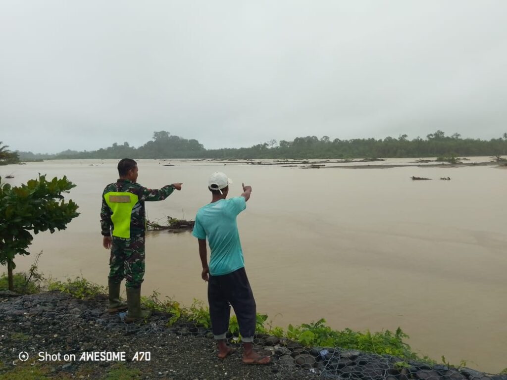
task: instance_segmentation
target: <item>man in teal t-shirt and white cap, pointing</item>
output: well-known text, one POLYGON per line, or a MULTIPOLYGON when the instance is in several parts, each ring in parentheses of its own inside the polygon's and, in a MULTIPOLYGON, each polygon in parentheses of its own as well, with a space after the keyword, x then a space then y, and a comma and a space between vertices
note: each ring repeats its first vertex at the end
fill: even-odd
POLYGON ((201 277, 208 282, 211 329, 218 342, 218 357, 224 359, 232 352, 226 339, 232 306, 244 343, 243 362, 268 364, 271 358, 259 355, 252 348, 257 308, 246 277, 236 223, 236 216, 246 208, 252 189, 243 184, 243 194, 240 197, 226 200, 230 183, 232 181, 224 173, 215 172, 209 177, 208 189, 212 193, 212 200, 197 212, 193 232, 199 240, 201 277), (209 265, 206 238, 211 249, 209 265))

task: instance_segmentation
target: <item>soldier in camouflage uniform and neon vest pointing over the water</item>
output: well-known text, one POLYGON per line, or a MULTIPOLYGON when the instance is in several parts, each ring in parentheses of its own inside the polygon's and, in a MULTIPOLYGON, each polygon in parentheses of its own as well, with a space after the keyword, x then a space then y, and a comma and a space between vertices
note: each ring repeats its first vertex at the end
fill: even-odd
POLYGON ((181 190, 182 183, 173 183, 160 189, 149 189, 136 182, 137 164, 132 159, 118 163, 120 179, 108 184, 102 194, 100 223, 103 246, 111 249, 109 285, 109 309, 114 313, 127 310, 126 322, 149 317, 141 312, 141 283, 144 276, 144 202, 163 201, 174 189, 181 190), (126 279, 127 305, 120 302, 120 287, 126 279))

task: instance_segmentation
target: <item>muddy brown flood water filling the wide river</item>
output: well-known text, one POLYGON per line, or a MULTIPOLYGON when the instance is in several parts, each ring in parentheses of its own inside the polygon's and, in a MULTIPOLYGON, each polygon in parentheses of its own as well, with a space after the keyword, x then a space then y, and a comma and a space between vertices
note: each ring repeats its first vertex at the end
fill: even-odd
MULTIPOLYGON (((479 159, 478 159, 479 160, 479 159)), ((483 158, 487 161, 488 158, 483 158)), ((481 161, 481 160, 479 160, 481 161)), ((107 284, 101 194, 118 160, 69 160, 0 167, 13 185, 40 172, 67 175, 81 215, 67 230, 36 235, 32 255, 16 260, 56 279, 83 275, 107 284)), ((410 163, 391 159, 387 163, 410 163)), ((147 202, 151 220, 193 219, 211 199, 207 178, 224 171, 252 196, 238 216, 245 268, 258 312, 286 327, 325 318, 335 329, 400 326, 420 355, 497 373, 507 367, 507 169, 393 167, 299 169, 238 163, 139 160, 138 182, 183 182, 166 201, 147 202), (413 181, 411 176, 429 177, 413 181), (451 178, 450 181, 440 177, 451 178)), ((385 164, 383 162, 382 164, 385 164)), ((206 300, 197 240, 149 233, 145 295, 157 289, 190 305, 206 300)), ((2 268, 5 270, 5 268, 2 268)))

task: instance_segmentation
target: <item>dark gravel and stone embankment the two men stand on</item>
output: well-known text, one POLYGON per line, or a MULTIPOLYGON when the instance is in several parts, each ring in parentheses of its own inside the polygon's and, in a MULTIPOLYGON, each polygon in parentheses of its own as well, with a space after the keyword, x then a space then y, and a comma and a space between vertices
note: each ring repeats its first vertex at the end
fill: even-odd
POLYGON ((507 380, 507 375, 467 368, 400 365, 400 359, 359 351, 308 349, 274 336, 256 339, 258 350, 270 355, 272 363, 245 365, 235 344, 235 353, 218 359, 207 329, 189 323, 168 328, 169 316, 161 313, 147 324, 125 324, 122 315, 104 313, 106 305, 103 296, 80 300, 60 292, 0 295, 0 380, 507 380))

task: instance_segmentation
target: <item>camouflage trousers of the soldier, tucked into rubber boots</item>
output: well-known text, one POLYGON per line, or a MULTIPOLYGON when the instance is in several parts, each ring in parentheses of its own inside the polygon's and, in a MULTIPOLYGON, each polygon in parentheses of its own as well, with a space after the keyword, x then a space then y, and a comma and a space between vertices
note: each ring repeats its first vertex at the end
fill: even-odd
POLYGON ((109 267, 109 279, 113 283, 119 284, 125 279, 127 288, 140 287, 144 276, 144 236, 113 237, 109 267))

